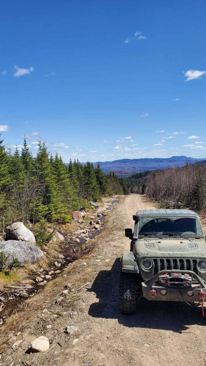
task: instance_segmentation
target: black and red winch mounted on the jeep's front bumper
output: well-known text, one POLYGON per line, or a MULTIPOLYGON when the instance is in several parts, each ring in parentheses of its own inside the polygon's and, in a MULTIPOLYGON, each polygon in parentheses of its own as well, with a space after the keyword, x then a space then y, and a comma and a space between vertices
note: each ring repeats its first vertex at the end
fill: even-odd
POLYGON ((162 287, 192 287, 192 277, 184 273, 165 273, 158 278, 162 287))

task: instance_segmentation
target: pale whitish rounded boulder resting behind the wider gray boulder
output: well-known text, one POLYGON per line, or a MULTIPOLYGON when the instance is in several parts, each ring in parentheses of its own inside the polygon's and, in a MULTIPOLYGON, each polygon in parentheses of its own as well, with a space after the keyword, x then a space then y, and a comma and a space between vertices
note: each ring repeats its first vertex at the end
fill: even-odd
POLYGON ((35 243, 35 236, 23 223, 14 223, 5 229, 6 240, 23 240, 35 243))

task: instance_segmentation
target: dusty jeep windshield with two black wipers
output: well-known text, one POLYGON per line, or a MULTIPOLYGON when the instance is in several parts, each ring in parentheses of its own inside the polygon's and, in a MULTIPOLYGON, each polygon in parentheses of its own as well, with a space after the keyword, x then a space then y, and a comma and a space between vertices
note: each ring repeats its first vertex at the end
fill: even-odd
POLYGON ((139 221, 139 235, 143 236, 182 236, 191 238, 203 236, 196 217, 142 217, 139 221))

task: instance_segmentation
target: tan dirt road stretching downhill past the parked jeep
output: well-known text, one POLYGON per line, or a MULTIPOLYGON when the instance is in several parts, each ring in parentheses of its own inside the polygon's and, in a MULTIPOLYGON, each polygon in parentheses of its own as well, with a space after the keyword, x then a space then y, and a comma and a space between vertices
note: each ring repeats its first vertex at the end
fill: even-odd
MULTIPOLYGON (((80 290, 76 316, 70 319, 63 312, 51 331, 42 332, 52 337, 58 331, 57 343, 45 354, 25 355, 29 365, 33 358, 32 365, 206 365, 205 318, 200 308, 142 299, 136 315, 119 313, 120 257, 130 250, 124 228, 133 227, 136 210, 150 208, 154 206, 146 197, 130 195, 121 198, 109 213, 98 250, 85 260, 85 271, 90 268, 91 277, 80 290), (79 331, 68 336, 64 333, 67 325, 77 325, 79 331)), ((22 359, 20 351, 16 356, 22 359)))

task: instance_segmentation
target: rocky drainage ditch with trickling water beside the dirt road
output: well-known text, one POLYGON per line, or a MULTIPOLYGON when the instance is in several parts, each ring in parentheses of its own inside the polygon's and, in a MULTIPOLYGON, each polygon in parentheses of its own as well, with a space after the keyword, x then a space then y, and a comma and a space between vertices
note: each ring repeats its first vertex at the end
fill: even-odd
MULTIPOLYGON (((86 242, 89 242, 95 236, 100 234, 104 226, 105 212, 113 210, 113 206, 120 198, 116 197, 103 207, 97 208, 97 218, 90 221, 90 226, 85 229, 79 229, 71 233, 72 237, 65 236, 64 247, 61 248, 61 254, 49 270, 41 268, 37 273, 32 273, 28 279, 21 281, 21 286, 5 287, 5 291, 0 294, 0 326, 4 324, 10 315, 18 311, 18 307, 28 298, 31 298, 40 291, 44 285, 53 281, 69 266, 77 257, 79 248, 86 242), (102 214, 102 212, 104 212, 102 214)), ((67 275, 63 275, 67 276, 67 275)))

